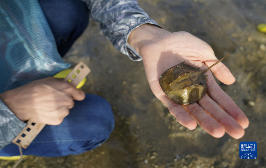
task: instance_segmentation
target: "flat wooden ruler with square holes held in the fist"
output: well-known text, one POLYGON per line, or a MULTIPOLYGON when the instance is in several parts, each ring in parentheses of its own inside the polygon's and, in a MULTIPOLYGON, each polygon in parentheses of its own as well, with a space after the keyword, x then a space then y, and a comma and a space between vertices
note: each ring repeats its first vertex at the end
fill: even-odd
MULTIPOLYGON (((76 87, 89 73, 90 69, 82 61, 80 61, 67 75, 64 81, 68 81, 76 87)), ((29 120, 26 127, 15 139, 13 139, 12 142, 26 149, 45 125, 46 124, 34 123, 29 120)))

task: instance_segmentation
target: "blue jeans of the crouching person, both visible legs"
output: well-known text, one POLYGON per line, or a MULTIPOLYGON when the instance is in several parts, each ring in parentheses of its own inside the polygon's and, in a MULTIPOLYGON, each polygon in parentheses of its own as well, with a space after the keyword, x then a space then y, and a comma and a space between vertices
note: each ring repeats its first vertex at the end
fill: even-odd
MULTIPOLYGON (((61 56, 83 33, 88 24, 88 10, 82 1, 40 1, 56 39, 61 56)), ((33 142, 23 149, 24 155, 57 157, 80 154, 105 142, 114 129, 110 104, 97 95, 86 94, 75 101, 74 108, 60 125, 46 125, 33 142)), ((1 156, 20 155, 11 143, 0 150, 1 156)))

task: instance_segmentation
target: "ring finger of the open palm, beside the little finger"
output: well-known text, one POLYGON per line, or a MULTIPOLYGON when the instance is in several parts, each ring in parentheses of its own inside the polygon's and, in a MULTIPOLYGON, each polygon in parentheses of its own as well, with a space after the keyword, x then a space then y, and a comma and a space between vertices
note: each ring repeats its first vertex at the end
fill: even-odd
MULTIPOLYGON (((210 106, 212 104, 209 104, 210 106)), ((182 105, 183 108, 196 120, 207 133, 215 138, 225 134, 224 128, 212 117, 210 117, 197 103, 182 105)))

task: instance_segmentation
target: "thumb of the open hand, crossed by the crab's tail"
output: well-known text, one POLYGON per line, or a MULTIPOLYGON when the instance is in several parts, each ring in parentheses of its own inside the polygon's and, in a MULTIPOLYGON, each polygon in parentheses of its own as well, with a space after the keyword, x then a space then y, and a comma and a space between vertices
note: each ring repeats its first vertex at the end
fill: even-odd
MULTIPOLYGON (((208 59, 209 60, 205 61, 205 64, 208 67, 212 66, 218 61, 214 54, 210 54, 208 59)), ((214 76, 224 84, 233 84, 236 81, 236 78, 222 62, 219 62, 217 65, 213 66, 211 71, 213 72, 214 76)))

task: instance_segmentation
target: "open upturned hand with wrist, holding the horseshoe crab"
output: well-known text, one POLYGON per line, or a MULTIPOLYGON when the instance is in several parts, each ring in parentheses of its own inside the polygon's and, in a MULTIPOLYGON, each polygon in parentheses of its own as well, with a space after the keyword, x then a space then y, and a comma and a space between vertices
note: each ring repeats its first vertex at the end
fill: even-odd
MULTIPOLYGON (((160 87, 160 75, 176 64, 186 61, 186 64, 201 67, 203 70, 218 61, 206 42, 184 31, 170 33, 150 24, 132 31, 128 42, 143 58, 151 90, 180 124, 188 129, 195 129, 198 123, 217 138, 222 137, 225 132, 235 139, 244 136, 244 128, 249 124, 247 117, 218 86, 210 71, 205 73, 208 75, 207 94, 189 105, 174 103, 160 87)), ((211 70, 224 84, 235 81, 229 69, 221 62, 211 70)))

